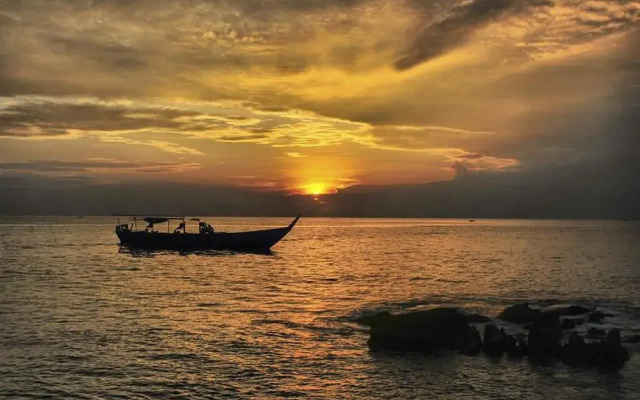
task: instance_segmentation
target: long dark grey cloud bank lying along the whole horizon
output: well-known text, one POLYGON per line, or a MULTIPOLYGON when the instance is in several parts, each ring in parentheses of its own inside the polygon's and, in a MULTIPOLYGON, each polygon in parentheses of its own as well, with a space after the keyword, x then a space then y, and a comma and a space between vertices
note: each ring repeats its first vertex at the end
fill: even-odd
POLYGON ((631 171, 611 179, 597 165, 352 186, 322 201, 318 207, 311 196, 223 185, 98 184, 86 178, 0 175, 0 214, 640 219, 639 181, 631 171))

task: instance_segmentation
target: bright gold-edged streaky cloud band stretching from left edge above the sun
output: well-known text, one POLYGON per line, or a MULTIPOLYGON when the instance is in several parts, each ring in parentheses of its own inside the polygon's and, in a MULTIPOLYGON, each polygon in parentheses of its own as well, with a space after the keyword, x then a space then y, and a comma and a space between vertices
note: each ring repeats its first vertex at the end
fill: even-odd
POLYGON ((180 154, 199 150, 176 141, 190 138, 273 147, 317 147, 357 141, 367 124, 286 109, 265 111, 234 101, 109 101, 91 97, 0 98, 0 137, 73 135, 107 143, 148 145, 180 154))

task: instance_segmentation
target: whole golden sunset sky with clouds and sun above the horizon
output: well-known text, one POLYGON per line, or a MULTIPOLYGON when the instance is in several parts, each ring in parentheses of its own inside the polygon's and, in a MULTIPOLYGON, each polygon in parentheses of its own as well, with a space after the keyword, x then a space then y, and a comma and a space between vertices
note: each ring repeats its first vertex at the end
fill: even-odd
POLYGON ((625 0, 0 0, 0 214, 639 217, 639 21, 625 0))

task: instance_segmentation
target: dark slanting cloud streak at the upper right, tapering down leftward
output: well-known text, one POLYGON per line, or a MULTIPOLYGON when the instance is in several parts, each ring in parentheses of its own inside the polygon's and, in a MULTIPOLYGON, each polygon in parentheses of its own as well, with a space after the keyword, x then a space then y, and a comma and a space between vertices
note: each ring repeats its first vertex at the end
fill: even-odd
POLYGON ((413 43, 394 66, 399 70, 414 67, 463 44, 478 28, 504 14, 523 13, 544 5, 553 3, 548 0, 474 0, 454 6, 442 20, 419 27, 413 43))

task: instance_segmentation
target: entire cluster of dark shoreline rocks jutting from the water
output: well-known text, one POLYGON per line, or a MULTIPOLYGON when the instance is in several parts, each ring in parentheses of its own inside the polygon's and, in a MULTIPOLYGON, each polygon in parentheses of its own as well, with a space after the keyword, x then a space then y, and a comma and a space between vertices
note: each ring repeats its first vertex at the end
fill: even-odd
MULTIPOLYGON (((488 319, 465 314, 457 308, 441 307, 396 315, 381 312, 362 317, 358 322, 371 327, 367 342, 371 351, 428 353, 437 349, 457 349, 462 354, 476 355, 482 350, 489 357, 501 357, 506 353, 509 357, 528 356, 532 362, 560 359, 572 367, 595 366, 602 372, 620 369, 629 359, 629 352, 621 345, 620 331, 617 329, 605 332, 590 328, 587 339, 600 339, 596 343, 587 343, 584 337, 572 332, 567 343, 561 344, 562 331, 574 328, 584 319, 560 320, 560 317, 582 315, 585 310, 588 311, 581 306, 567 306, 542 311, 530 308, 527 303, 507 307, 499 318, 528 324, 527 340, 523 335, 509 335, 504 328, 499 329, 493 323, 484 326, 481 336, 478 329, 469 324, 488 319)), ((589 315, 602 314, 596 312, 589 315)), ((640 340, 638 337, 629 339, 640 340)))

